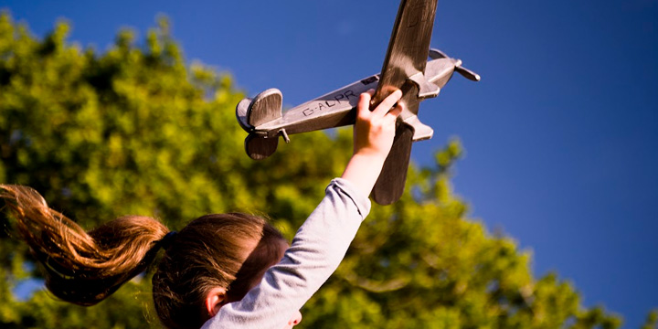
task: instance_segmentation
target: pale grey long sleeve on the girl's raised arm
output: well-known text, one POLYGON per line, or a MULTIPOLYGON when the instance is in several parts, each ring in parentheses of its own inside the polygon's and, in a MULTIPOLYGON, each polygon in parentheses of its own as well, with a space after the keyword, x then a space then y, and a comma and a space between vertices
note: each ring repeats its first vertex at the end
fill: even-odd
POLYGON ((371 205, 367 196, 341 178, 334 179, 325 192, 283 259, 242 301, 222 306, 202 328, 281 329, 329 279, 371 205))

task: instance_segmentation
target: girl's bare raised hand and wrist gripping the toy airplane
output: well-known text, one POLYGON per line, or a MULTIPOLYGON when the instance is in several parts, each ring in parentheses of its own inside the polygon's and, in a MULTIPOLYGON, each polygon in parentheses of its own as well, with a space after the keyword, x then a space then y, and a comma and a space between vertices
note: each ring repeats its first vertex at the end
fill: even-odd
POLYGON ((375 93, 361 94, 356 108, 354 154, 341 176, 367 195, 372 191, 381 173, 395 138, 396 120, 402 112, 398 103, 402 91, 396 90, 370 111, 370 99, 375 93))

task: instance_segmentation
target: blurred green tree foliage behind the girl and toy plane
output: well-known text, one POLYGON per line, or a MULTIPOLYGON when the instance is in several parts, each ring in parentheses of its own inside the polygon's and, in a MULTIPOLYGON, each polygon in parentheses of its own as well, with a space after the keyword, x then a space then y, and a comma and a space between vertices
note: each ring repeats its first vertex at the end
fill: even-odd
MULTIPOLYGON (((125 214, 169 228, 213 212, 269 214, 289 238, 340 175, 351 133, 308 133, 251 161, 234 117, 244 96, 226 74, 186 65, 165 20, 142 45, 122 31, 104 53, 67 41, 61 22, 43 39, 0 16, 0 182, 35 187, 83 227, 125 214), (292 161, 291 159, 294 159, 292 161)), ((535 278, 531 255, 487 233, 451 191, 457 141, 436 165, 412 166, 393 206, 374 206, 345 261, 305 306, 306 328, 615 328, 580 304, 555 274, 535 278)), ((83 308, 37 292, 27 247, 0 218, 0 327, 157 327, 149 273, 83 308)), ((654 321, 655 322, 655 321, 654 321)), ((651 324, 648 324, 651 325, 651 324)))

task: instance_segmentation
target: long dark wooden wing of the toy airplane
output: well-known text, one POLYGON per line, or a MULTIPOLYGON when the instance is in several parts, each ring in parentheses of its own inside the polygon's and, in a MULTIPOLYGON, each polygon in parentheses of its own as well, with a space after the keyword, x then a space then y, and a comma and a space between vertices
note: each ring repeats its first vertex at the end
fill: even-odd
POLYGON ((375 202, 389 205, 404 192, 411 155, 411 143, 431 137, 431 129, 418 121, 419 98, 436 96, 439 88, 424 80, 425 66, 430 52, 431 31, 434 26, 437 0, 402 0, 393 27, 379 85, 371 108, 383 101, 394 90, 402 90, 400 102, 406 109, 400 114, 396 137, 372 191, 375 202), (415 126, 424 138, 414 138, 415 126), (429 129, 430 131, 428 132, 429 129), (429 137, 427 137, 429 133, 429 137))

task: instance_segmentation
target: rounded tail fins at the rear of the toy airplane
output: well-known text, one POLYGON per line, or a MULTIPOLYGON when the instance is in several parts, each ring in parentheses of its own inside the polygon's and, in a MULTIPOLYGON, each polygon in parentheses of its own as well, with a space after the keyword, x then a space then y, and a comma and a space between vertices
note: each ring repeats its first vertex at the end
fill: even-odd
POLYGON ((256 132, 261 124, 281 118, 283 96, 277 89, 269 89, 256 95, 253 99, 246 98, 238 103, 236 117, 240 127, 249 133, 245 139, 245 151, 250 158, 262 160, 276 151, 279 135, 267 136, 256 132))

